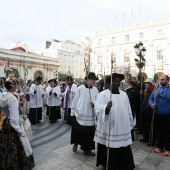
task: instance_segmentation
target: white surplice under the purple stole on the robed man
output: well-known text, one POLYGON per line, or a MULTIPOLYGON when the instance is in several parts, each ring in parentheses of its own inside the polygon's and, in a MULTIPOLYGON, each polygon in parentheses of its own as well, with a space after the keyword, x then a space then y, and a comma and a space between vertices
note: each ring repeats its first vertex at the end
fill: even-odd
MULTIPOLYGON (((63 108, 65 108, 66 95, 67 95, 67 90, 68 90, 68 88, 69 88, 69 86, 66 87, 66 90, 65 90, 65 92, 63 93, 63 97, 64 97, 63 108)), ((68 108, 71 108, 71 106, 72 106, 72 102, 73 102, 73 99, 74 99, 74 95, 75 95, 76 90, 77 90, 77 85, 73 83, 73 85, 71 86, 70 93, 69 93, 68 108)))

